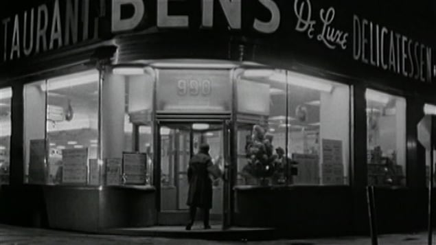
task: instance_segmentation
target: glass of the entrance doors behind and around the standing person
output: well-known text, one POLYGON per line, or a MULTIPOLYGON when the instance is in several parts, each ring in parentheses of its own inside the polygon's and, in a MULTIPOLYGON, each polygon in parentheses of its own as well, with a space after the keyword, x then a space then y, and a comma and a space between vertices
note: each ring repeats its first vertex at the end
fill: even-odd
MULTIPOLYGON (((187 169, 201 143, 209 143, 212 161, 224 159, 221 124, 165 124, 160 128, 161 211, 187 211, 187 169)), ((211 220, 222 215, 222 180, 213 182, 211 220)))

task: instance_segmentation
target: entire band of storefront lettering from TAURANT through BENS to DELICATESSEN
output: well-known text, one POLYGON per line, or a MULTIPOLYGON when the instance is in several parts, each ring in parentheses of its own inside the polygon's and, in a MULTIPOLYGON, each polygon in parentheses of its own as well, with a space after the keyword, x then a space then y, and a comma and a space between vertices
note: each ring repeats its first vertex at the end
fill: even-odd
POLYGON ((108 23, 107 32, 111 33, 105 36, 152 26, 167 30, 220 28, 232 34, 264 36, 286 32, 289 36, 304 35, 325 49, 348 51, 358 62, 406 78, 431 82, 435 76, 433 50, 424 40, 415 40, 353 10, 339 12, 331 1, 198 0, 196 11, 187 7, 192 6, 187 2, 54 0, 37 5, 1 20, 1 61, 97 40, 100 23, 108 23), (183 12, 183 4, 189 10, 183 12), (242 14, 246 11, 251 13, 242 14))

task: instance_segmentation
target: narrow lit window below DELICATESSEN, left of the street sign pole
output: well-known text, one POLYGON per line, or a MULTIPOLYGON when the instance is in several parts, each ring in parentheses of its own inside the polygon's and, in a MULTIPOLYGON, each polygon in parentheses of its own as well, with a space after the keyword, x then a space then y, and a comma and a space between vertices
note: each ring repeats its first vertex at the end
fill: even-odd
POLYGON ((406 184, 406 100, 367 89, 368 185, 406 184))

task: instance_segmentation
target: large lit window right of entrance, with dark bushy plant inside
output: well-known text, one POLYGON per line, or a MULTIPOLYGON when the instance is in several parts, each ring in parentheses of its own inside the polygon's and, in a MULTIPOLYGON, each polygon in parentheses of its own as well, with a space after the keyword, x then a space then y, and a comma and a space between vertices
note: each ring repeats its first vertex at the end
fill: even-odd
POLYGON ((347 184, 349 87, 291 71, 248 74, 237 80, 238 185, 347 184))

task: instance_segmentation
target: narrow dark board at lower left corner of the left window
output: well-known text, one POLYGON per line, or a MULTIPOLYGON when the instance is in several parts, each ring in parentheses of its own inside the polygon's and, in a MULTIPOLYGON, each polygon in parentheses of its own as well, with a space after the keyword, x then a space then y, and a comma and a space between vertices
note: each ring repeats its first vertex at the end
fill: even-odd
POLYGON ((29 183, 45 184, 45 152, 47 150, 45 139, 30 140, 29 154, 29 183))

